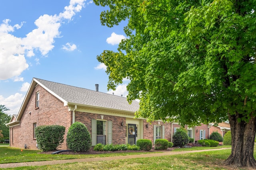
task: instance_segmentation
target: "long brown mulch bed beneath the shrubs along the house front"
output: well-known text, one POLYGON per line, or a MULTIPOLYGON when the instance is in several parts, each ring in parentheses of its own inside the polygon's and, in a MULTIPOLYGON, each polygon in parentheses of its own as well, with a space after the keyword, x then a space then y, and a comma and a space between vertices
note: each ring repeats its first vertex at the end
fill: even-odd
MULTIPOLYGON (((93 149, 88 150, 87 152, 73 152, 73 151, 66 151, 60 152, 58 154, 104 154, 104 153, 123 153, 123 152, 162 152, 162 151, 171 151, 176 149, 176 147, 168 148, 167 150, 154 150, 152 147, 151 150, 116 150, 116 151, 94 151, 93 149)), ((50 151, 42 151, 39 154, 52 154, 58 150, 50 150, 50 151)))

